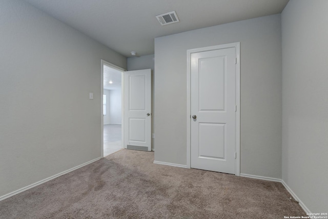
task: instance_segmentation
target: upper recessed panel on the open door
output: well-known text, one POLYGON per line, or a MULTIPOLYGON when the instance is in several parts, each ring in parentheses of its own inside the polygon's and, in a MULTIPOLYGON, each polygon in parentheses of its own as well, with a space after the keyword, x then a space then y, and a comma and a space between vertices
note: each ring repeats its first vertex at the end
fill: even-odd
POLYGON ((146 109, 146 76, 129 75, 129 110, 146 109))

